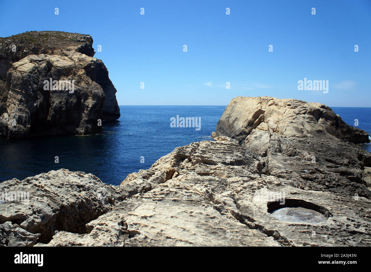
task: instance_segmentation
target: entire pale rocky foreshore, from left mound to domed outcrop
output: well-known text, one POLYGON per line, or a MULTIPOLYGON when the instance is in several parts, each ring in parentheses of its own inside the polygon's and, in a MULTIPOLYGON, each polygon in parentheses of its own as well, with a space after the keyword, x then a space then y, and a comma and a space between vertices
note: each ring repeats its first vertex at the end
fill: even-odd
POLYGON ((0 203, 0 245, 371 245, 367 133, 323 104, 237 97, 213 135, 119 186, 65 169, 4 181, 30 196, 0 203))

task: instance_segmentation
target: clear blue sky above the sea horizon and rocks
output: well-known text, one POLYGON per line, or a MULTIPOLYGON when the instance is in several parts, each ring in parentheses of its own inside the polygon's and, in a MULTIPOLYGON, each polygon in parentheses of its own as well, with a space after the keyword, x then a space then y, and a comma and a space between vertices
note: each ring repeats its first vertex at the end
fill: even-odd
POLYGON ((0 22, 1 37, 92 35, 119 105, 227 105, 267 95, 371 107, 370 0, 3 1, 0 22), (298 91, 304 78, 328 80, 329 92, 298 91))

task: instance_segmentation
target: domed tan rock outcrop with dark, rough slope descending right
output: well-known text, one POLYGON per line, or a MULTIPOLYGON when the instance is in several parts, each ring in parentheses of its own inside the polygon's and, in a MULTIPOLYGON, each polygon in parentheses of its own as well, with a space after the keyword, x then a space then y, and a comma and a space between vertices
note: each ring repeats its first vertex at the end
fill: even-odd
POLYGON ((266 156, 264 171, 295 187, 371 196, 363 171, 371 154, 353 144, 369 142, 368 134, 326 105, 239 96, 226 107, 217 134, 266 156))

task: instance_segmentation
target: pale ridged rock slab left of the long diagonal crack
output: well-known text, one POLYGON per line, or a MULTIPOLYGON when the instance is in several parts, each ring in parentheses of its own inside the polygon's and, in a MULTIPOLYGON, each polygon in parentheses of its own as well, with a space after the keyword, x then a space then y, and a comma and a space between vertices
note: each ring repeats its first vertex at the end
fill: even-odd
POLYGON ((262 168, 255 153, 226 142, 178 147, 150 169, 128 175, 119 186, 130 192, 124 193, 127 199, 87 224, 89 233, 60 232, 47 246, 280 246, 231 214, 223 215, 214 202, 229 175, 257 178, 262 168), (230 151, 234 155, 224 158, 230 151), (205 152, 213 156, 205 160, 205 152))

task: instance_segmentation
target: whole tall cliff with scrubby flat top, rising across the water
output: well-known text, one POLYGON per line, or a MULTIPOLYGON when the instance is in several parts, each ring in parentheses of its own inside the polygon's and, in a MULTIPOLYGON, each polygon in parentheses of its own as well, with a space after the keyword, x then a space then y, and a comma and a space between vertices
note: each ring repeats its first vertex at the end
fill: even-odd
POLYGON ((0 38, 0 136, 95 134, 99 119, 118 119, 116 89, 92 44, 60 31, 0 38))

